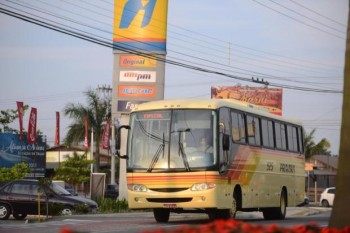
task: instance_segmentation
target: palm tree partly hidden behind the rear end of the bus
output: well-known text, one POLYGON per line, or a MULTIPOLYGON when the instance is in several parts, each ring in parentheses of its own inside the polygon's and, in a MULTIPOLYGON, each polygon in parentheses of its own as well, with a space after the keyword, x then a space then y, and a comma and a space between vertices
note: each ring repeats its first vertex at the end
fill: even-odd
POLYGON ((310 134, 304 133, 305 158, 309 159, 314 155, 331 155, 328 150, 331 147, 329 141, 322 138, 317 144, 314 141, 314 134, 316 129, 313 129, 310 134))

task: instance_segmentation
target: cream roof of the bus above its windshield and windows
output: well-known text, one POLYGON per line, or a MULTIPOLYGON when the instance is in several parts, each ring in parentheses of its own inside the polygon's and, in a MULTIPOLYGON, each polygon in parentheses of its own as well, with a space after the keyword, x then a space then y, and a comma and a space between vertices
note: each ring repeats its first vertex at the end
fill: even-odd
POLYGON ((292 124, 301 125, 300 121, 290 120, 281 116, 269 113, 266 108, 242 102, 235 99, 167 99, 156 100, 139 104, 132 112, 147 110, 165 110, 165 109, 218 109, 221 107, 229 107, 252 114, 265 116, 275 120, 290 122, 292 124))

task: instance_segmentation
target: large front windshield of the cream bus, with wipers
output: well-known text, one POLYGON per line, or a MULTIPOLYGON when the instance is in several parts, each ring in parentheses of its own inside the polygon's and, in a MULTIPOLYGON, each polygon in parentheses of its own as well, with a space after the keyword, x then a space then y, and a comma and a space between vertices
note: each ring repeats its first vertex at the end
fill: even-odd
POLYGON ((131 114, 128 169, 207 169, 216 163, 212 110, 162 110, 131 114))

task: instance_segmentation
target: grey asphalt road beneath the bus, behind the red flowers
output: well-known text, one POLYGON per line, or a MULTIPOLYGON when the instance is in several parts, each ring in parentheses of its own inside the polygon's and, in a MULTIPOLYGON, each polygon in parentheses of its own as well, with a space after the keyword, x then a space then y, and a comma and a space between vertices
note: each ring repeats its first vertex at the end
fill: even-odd
MULTIPOLYGON (((265 221, 262 213, 238 213, 237 219, 250 224, 278 224, 289 227, 317 222, 327 226, 331 209, 314 207, 297 207, 287 209, 287 218, 283 221, 265 221)), ((1 233, 67 233, 64 229, 79 233, 140 233, 155 229, 178 229, 183 225, 208 224, 205 214, 171 214, 168 223, 156 223, 152 212, 132 212, 118 214, 73 215, 53 217, 38 222, 37 216, 29 216, 28 221, 9 219, 0 221, 1 233)))

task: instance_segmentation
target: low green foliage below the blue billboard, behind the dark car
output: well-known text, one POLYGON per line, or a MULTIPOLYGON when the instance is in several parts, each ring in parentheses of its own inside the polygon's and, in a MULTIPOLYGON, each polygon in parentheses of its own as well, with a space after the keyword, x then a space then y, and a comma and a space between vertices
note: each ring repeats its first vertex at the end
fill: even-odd
POLYGON ((11 168, 0 168, 0 182, 6 182, 24 178, 30 172, 29 166, 25 162, 17 163, 11 168))

